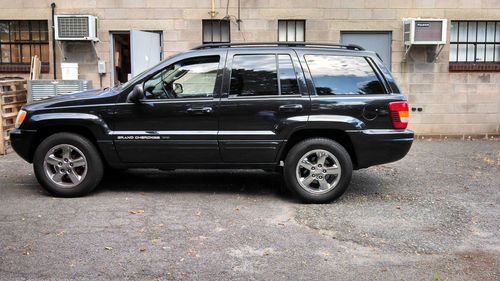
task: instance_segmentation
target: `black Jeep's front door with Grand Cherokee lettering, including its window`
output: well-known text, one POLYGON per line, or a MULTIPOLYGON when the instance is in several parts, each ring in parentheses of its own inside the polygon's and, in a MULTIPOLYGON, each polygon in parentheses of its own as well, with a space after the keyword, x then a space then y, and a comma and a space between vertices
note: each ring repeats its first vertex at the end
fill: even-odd
POLYGON ((224 55, 182 59, 143 82, 144 99, 117 105, 114 142, 127 163, 218 163, 224 55))

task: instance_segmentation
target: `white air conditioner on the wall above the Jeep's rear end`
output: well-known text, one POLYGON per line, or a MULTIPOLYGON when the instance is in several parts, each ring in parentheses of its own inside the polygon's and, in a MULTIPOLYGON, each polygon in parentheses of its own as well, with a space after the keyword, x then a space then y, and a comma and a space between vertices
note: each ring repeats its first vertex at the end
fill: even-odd
POLYGON ((403 24, 406 46, 446 44, 446 19, 403 19, 403 24))

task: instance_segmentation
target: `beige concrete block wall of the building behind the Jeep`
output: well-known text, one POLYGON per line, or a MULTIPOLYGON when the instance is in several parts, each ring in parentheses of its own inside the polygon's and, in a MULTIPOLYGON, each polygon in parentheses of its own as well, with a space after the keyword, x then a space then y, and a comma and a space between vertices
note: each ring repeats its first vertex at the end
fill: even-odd
MULTIPOLYGON (((163 55, 168 57, 201 43, 201 20, 210 18, 211 7, 211 0, 0 0, 0 19, 50 20, 51 2, 56 3, 57 14, 99 18, 97 55, 106 61, 108 71, 111 31, 162 31, 163 55)), ((401 22, 407 17, 499 20, 498 0, 242 0, 240 30, 235 22, 237 3, 215 1, 215 18, 223 18, 226 11, 231 16, 233 42, 276 41, 278 19, 305 19, 307 41, 337 43, 341 31, 391 31, 392 71, 411 106, 422 108, 410 113, 412 129, 433 135, 500 132, 500 73, 450 73, 448 46, 435 62, 429 62, 432 50, 425 47, 404 58, 401 22)), ((60 48, 57 53, 60 58, 60 48)), ((81 78, 92 79, 97 86, 97 66, 92 68, 86 60, 81 78)), ((107 73, 103 87, 110 83, 107 73)))

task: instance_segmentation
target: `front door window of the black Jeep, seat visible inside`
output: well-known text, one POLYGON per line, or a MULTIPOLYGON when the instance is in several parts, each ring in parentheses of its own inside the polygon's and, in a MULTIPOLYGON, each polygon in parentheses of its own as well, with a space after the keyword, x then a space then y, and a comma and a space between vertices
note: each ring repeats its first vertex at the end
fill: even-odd
POLYGON ((146 99, 205 98, 214 94, 219 56, 192 58, 169 65, 144 82, 146 99))

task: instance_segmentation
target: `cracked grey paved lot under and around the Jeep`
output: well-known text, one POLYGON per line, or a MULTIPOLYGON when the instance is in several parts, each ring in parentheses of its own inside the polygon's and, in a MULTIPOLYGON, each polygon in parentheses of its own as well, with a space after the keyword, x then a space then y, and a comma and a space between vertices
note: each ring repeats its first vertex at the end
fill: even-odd
POLYGON ((0 157, 0 279, 500 280, 500 142, 417 141, 328 205, 261 171, 132 170, 53 198, 0 157))

